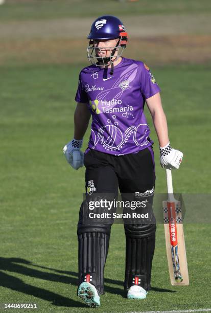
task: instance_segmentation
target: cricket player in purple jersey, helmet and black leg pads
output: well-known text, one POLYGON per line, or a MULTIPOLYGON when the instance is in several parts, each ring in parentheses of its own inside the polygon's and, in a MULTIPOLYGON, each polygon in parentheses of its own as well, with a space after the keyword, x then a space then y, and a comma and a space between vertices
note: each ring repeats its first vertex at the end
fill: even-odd
MULTIPOLYGON (((86 167, 86 195, 140 194, 153 196, 155 166, 153 141, 144 114, 150 111, 160 146, 163 168, 178 169, 182 152, 171 148, 160 88, 142 61, 122 57, 127 33, 115 16, 101 16, 87 37, 91 65, 82 69, 76 93, 74 139, 63 148, 74 168, 86 167), (90 138, 81 151, 84 134, 92 117, 90 138)), ((112 223, 91 222, 84 200, 78 222, 78 296, 88 306, 100 305, 104 294, 104 266, 112 223)), ((102 208, 103 211, 103 208, 102 208)), ((125 223, 126 264, 124 288, 128 299, 145 299, 150 290, 156 222, 125 223)))

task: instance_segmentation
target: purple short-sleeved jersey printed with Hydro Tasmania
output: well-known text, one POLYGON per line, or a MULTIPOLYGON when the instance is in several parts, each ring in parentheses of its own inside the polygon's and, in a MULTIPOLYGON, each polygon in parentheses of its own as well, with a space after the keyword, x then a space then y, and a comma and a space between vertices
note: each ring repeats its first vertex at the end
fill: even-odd
POLYGON ((122 58, 109 73, 90 65, 79 75, 75 100, 87 103, 92 115, 89 149, 124 155, 151 146, 144 104, 160 88, 148 66, 122 58))

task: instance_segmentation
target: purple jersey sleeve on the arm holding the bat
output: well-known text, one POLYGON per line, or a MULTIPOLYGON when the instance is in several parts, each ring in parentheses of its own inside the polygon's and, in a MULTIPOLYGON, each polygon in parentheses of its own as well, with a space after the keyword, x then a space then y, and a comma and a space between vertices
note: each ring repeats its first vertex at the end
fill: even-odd
POLYGON ((160 87, 156 83, 156 80, 148 66, 144 63, 141 65, 140 70, 140 91, 145 99, 148 99, 160 92, 160 87))

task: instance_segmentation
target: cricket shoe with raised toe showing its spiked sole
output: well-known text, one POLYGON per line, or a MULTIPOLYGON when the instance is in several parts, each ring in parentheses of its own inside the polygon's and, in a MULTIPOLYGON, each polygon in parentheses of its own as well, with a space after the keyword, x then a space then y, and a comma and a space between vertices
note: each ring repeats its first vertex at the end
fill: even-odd
POLYGON ((82 282, 78 287, 78 297, 85 301, 90 307, 98 307, 100 305, 100 297, 95 286, 89 282, 82 282))

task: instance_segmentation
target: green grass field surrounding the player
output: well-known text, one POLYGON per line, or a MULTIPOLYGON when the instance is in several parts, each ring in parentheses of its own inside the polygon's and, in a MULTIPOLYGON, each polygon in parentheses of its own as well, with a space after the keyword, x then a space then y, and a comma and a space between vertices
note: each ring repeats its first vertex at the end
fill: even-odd
MULTIPOLYGON (((109 3, 118 12, 117 3, 114 0, 109 3)), ((148 5, 143 1, 145 11, 136 3, 128 13, 167 14, 185 9, 192 14, 193 10, 197 13, 207 8, 208 13, 210 9, 210 2, 205 0, 169 1, 167 7, 166 3, 152 1, 148 5), (138 12, 134 12, 135 6, 138 12)), ((0 19, 12 23, 18 19, 63 18, 68 15, 66 8, 71 6, 64 1, 57 12, 58 1, 53 0, 52 7, 49 1, 40 1, 38 5, 43 8, 38 10, 40 15, 34 10, 37 4, 6 3, 0 7, 0 19)), ((83 3, 83 9, 86 8, 83 3)), ((85 14, 79 7, 74 10, 71 11, 74 16, 85 14)), ((126 14, 124 10, 121 14, 126 14)), ((99 5, 93 15, 97 13, 101 15, 99 5)), ((74 97, 79 71, 88 65, 85 58, 84 55, 83 63, 73 60, 36 64, 34 59, 31 64, 30 59, 27 64, 24 59, 10 66, 1 63, 1 305, 37 303, 35 311, 39 312, 94 311, 76 296, 77 222, 85 185, 84 168, 74 171, 62 152, 73 137, 74 97)), ((210 61, 196 65, 185 64, 182 59, 180 63, 168 62, 151 68, 161 87, 172 146, 184 153, 179 171, 173 173, 176 193, 210 193, 210 70, 210 61)), ((147 111, 146 115, 155 142, 156 192, 165 193, 165 171, 159 165, 159 147, 147 111)), ((89 131, 83 150, 88 137, 89 131)), ((200 203, 199 210, 203 210, 200 203)), ((184 224, 189 287, 171 286, 163 225, 157 226, 152 290, 144 301, 125 297, 125 235, 123 225, 113 225, 105 266, 106 294, 97 310, 108 313, 210 308, 208 222, 184 224)), ((4 311, 2 307, 0 310, 4 311)))

